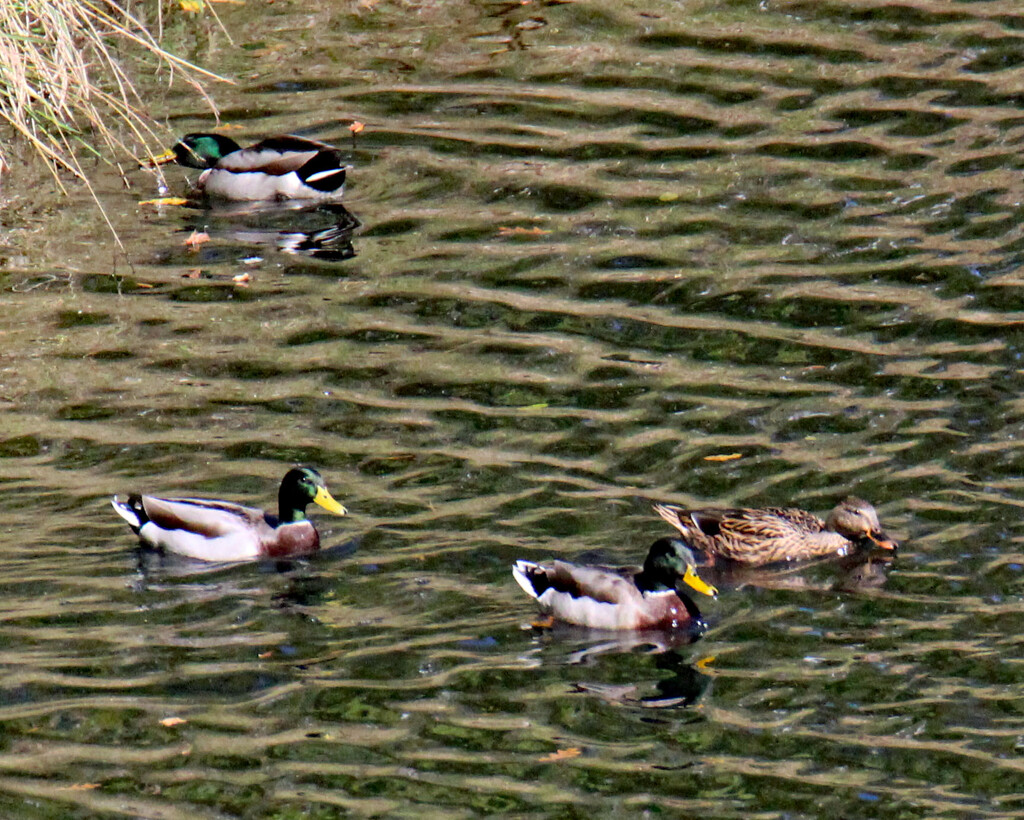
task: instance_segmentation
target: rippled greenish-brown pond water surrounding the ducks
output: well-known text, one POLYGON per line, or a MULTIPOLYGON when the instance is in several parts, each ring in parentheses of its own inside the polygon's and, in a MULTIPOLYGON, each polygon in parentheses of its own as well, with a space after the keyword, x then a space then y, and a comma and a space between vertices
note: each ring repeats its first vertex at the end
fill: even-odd
POLYGON ((5 191, 0 816, 1024 815, 1019 3, 218 8, 227 133, 366 123, 360 226, 97 166, 129 266, 5 191), (108 504, 293 463, 352 515, 291 567, 108 504), (509 571, 850 491, 892 564, 722 578, 668 651, 509 571))

